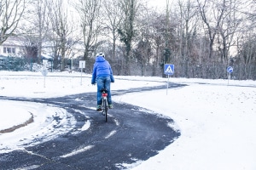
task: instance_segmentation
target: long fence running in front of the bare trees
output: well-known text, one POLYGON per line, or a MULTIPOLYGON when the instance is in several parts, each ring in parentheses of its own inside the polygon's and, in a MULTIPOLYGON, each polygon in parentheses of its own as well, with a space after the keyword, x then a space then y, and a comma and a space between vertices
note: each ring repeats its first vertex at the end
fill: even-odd
MULTIPOLYGON (((80 59, 67 59, 65 61, 65 68, 71 69, 73 71, 80 71, 79 69, 80 59)), ((122 60, 108 60, 112 65, 112 70, 114 75, 124 75, 125 74, 125 63, 122 60)), ((88 59, 85 63, 84 72, 90 74, 94 65, 95 59, 88 59)), ((175 65, 174 75, 172 77, 188 77, 188 78, 209 78, 209 79, 227 79, 228 72, 226 71, 228 65, 175 65)), ((61 62, 49 61, 48 69, 49 71, 60 71, 61 62)), ((256 65, 231 65, 234 71, 231 73, 232 79, 237 80, 256 80, 256 65)), ((138 62, 129 63, 131 76, 156 76, 162 77, 163 65, 142 65, 138 62)), ((42 65, 37 64, 37 60, 33 58, 0 58, 0 71, 39 71, 42 65)))

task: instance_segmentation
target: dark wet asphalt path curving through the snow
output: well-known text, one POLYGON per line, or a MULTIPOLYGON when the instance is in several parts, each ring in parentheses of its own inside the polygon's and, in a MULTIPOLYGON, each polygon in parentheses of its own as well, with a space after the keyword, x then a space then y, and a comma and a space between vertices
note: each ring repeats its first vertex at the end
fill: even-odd
MULTIPOLYGON (((169 84, 169 88, 182 86, 169 84)), ((112 94, 123 95, 161 88, 166 86, 119 90, 112 94)), ((108 122, 105 122, 102 112, 92 109, 96 105, 96 93, 48 99, 3 96, 0 99, 55 105, 64 108, 76 119, 73 131, 47 142, 32 146, 27 144, 27 147, 24 145, 24 150, 0 154, 1 170, 125 169, 126 165, 157 155, 180 136, 178 131, 168 126, 173 122, 170 117, 134 105, 113 103, 114 109, 108 111, 108 122), (90 127, 79 131, 87 121, 90 127)), ((55 122, 60 121, 57 116, 54 119, 55 122)))

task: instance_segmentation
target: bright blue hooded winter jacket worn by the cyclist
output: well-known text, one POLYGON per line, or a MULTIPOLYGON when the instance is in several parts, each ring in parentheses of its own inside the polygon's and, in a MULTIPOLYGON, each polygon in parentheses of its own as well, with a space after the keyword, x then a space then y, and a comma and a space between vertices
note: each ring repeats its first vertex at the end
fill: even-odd
POLYGON ((95 64, 93 65, 91 84, 96 83, 96 77, 110 76, 111 82, 114 82, 113 72, 108 61, 102 57, 96 57, 95 64))

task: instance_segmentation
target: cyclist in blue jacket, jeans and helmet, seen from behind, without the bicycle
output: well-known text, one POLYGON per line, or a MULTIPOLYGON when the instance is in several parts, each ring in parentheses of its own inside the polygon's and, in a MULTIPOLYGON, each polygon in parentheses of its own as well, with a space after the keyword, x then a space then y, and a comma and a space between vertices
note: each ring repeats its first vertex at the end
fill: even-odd
POLYGON ((91 84, 97 84, 97 107, 96 111, 102 111, 102 93, 101 89, 106 88, 108 90, 108 108, 113 109, 110 82, 114 82, 113 72, 108 60, 105 59, 105 54, 96 54, 96 60, 93 65, 91 84))

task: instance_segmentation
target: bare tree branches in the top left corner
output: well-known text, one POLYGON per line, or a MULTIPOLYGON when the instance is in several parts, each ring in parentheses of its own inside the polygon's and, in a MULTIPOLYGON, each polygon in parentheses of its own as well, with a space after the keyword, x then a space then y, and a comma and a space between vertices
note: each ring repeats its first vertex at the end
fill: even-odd
POLYGON ((15 35, 15 30, 25 10, 25 0, 0 1, 0 45, 8 37, 15 35))

